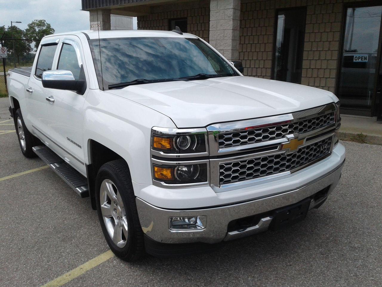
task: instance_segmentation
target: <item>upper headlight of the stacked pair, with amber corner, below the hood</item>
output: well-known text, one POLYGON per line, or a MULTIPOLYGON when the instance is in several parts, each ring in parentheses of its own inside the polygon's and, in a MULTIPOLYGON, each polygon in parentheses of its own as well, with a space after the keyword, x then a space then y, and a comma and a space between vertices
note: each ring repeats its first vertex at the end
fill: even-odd
POLYGON ((190 132, 181 129, 153 128, 152 150, 167 153, 206 153, 206 129, 196 129, 190 132))

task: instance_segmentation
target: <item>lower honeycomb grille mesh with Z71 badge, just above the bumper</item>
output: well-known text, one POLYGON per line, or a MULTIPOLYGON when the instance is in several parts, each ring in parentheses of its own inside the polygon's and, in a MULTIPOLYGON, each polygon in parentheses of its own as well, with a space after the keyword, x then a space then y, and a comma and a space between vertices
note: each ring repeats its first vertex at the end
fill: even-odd
POLYGON ((301 168, 329 155, 331 146, 332 137, 328 137, 298 148, 295 152, 220 163, 219 183, 236 183, 301 168))

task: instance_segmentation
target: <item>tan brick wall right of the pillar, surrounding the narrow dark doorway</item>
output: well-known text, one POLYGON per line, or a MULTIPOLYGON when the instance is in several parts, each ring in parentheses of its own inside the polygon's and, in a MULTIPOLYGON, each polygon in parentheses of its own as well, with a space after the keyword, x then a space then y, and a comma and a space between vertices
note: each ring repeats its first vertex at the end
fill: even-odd
POLYGON ((270 78, 277 9, 306 7, 301 83, 334 92, 343 0, 242 0, 239 58, 244 74, 270 78))

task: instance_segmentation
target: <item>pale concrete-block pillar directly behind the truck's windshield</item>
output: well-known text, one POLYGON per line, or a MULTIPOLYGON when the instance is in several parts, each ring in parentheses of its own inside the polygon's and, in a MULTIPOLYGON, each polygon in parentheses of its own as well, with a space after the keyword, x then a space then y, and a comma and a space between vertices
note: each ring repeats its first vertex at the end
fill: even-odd
POLYGON ((240 0, 210 0, 210 44, 230 61, 239 59, 240 0))

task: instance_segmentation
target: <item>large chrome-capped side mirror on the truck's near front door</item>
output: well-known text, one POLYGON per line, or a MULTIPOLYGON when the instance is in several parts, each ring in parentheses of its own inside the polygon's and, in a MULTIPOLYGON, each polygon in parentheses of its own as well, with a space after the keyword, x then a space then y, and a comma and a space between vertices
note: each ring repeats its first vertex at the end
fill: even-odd
POLYGON ((83 95, 86 90, 85 80, 76 80, 73 73, 66 70, 49 70, 42 73, 42 86, 57 90, 71 90, 83 95))

